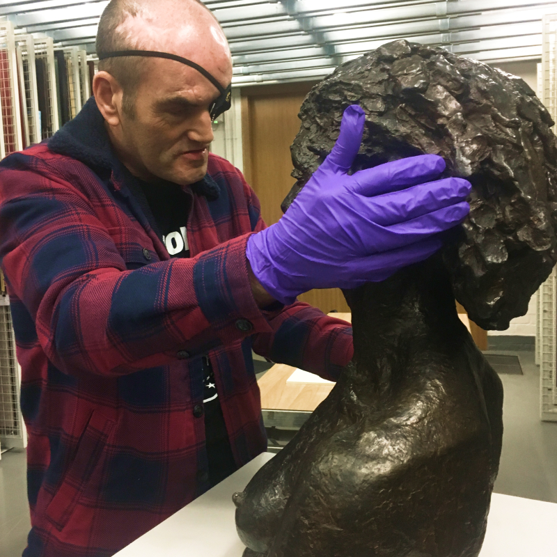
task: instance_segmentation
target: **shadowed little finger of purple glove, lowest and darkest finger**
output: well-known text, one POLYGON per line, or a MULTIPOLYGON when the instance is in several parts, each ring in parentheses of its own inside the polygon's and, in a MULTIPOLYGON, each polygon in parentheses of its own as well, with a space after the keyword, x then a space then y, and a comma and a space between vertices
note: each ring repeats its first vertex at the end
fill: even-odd
POLYGON ((352 260, 348 263, 349 272, 353 277, 352 283, 341 288, 356 288, 367 282, 384 281, 398 270, 426 260, 442 247, 443 240, 440 237, 431 237, 411 246, 352 260))

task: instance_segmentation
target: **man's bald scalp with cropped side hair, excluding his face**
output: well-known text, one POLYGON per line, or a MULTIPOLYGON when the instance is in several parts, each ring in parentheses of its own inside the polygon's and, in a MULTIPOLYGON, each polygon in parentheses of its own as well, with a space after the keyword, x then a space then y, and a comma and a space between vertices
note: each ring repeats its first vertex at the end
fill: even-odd
MULTIPOLYGON (((224 87, 230 49, 210 10, 199 0, 111 0, 97 31, 97 54, 122 50, 154 50, 177 54, 204 66, 217 61, 216 77, 224 87), (219 75, 219 73, 221 75, 219 75)), ((124 91, 123 109, 133 113, 134 95, 150 61, 107 58, 99 70, 112 74, 124 91)), ((228 80, 228 83, 226 81, 228 80)))

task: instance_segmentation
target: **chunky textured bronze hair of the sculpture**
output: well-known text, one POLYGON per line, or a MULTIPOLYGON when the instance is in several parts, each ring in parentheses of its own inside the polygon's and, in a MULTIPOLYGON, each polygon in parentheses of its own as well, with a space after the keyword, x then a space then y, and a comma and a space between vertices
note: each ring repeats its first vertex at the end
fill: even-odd
POLYGON ((359 104, 366 132, 353 171, 402 157, 444 157, 473 185, 471 213, 444 258, 458 301, 485 329, 506 329, 557 260, 557 148, 551 116, 518 77, 444 49, 391 42, 341 65, 309 93, 292 145, 288 207, 359 104))

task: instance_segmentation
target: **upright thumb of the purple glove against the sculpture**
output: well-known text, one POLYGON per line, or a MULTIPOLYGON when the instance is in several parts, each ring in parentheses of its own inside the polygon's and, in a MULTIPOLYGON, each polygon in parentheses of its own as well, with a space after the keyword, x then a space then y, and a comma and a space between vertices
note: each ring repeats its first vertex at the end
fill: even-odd
POLYGON ((363 136, 366 113, 357 104, 344 111, 340 135, 325 162, 321 165, 329 171, 348 171, 358 154, 363 136))

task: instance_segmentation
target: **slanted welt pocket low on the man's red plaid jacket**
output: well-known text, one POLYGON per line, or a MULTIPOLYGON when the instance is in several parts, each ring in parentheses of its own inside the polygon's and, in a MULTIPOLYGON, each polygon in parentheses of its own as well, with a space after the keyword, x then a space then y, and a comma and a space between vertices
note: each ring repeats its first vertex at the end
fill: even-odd
POLYGON ((91 479, 95 466, 100 462, 113 426, 113 421, 104 418, 97 411, 91 414, 87 427, 79 439, 70 469, 47 506, 47 517, 58 531, 68 523, 79 497, 91 479))

